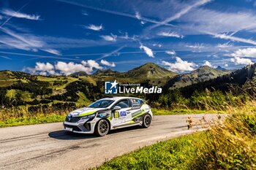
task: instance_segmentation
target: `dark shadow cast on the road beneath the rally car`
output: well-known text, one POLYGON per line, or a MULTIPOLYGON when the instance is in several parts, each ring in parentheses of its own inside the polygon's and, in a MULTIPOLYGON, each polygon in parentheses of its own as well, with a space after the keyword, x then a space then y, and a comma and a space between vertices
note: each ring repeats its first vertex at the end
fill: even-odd
MULTIPOLYGON (((118 134, 118 133, 122 133, 122 132, 126 132, 129 133, 129 131, 135 131, 138 129, 143 129, 141 128, 141 126, 132 126, 132 127, 128 127, 128 128, 118 128, 115 129, 113 131, 110 131, 108 134, 118 134)), ((95 134, 75 134, 69 131, 52 131, 48 134, 48 136, 50 138, 54 138, 54 139, 60 139, 60 140, 79 140, 79 139, 93 139, 93 138, 97 138, 99 136, 95 135, 95 134)))

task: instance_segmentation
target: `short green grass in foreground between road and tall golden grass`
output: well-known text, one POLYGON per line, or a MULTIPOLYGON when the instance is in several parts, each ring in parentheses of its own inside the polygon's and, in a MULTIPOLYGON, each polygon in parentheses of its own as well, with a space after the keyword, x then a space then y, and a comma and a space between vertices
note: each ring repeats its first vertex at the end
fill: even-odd
POLYGON ((187 169, 204 133, 189 134, 140 148, 94 169, 187 169))

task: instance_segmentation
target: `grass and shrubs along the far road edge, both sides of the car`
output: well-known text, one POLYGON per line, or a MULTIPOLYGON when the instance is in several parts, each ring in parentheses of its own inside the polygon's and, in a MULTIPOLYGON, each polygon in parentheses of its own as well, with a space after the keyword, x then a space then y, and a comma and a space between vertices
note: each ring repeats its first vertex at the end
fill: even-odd
MULTIPOLYGON (((76 88, 83 88, 83 86, 72 82, 72 88, 70 87, 70 89, 78 92, 76 88)), ((250 90, 252 89, 254 88, 250 90)), ((34 99, 33 101, 27 101, 29 104, 26 105, 1 107, 0 127, 63 121, 68 112, 80 107, 86 107, 90 103, 84 93, 78 92, 78 96, 76 96, 75 93, 72 93, 72 90, 69 92, 69 100, 66 101, 57 101, 56 99, 58 98, 51 98, 51 100, 34 99), (76 97, 72 98, 72 96, 76 97)), ((211 91, 206 88, 206 90, 200 92, 195 91, 189 97, 182 95, 179 90, 171 90, 167 94, 158 96, 159 99, 157 101, 152 101, 149 98, 146 102, 153 107, 154 115, 222 114, 229 113, 232 108, 243 107, 253 100, 254 97, 246 90, 241 92, 236 90, 222 93, 219 90, 211 91)), ((17 96, 17 94, 19 93, 15 95, 17 96)), ((9 93, 9 96, 13 95, 9 93)), ((145 96, 139 97, 145 98, 145 96)), ((91 99, 91 101, 94 100, 91 99)), ((19 101, 15 100, 15 102, 19 101)))

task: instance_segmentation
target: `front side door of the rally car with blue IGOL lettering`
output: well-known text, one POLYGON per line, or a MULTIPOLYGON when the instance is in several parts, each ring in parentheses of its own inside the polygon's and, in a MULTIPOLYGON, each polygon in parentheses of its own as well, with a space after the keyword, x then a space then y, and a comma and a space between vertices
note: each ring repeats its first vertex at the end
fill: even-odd
POLYGON ((132 115, 130 114, 130 109, 132 108, 131 103, 129 99, 123 99, 121 101, 118 101, 114 107, 121 107, 119 110, 113 111, 113 119, 111 120, 111 124, 113 125, 113 128, 127 125, 129 120, 131 120, 132 115))

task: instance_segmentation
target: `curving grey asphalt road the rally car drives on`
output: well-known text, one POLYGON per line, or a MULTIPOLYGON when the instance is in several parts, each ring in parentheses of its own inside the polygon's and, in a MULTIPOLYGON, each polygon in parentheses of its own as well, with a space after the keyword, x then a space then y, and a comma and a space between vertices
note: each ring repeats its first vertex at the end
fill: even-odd
MULTIPOLYGON (((190 116, 195 123, 203 115, 190 116)), ((104 137, 68 134, 62 123, 0 128, 0 169, 89 169, 139 147, 203 130, 199 125, 188 130, 187 117, 154 116, 150 128, 123 128, 104 137)))

